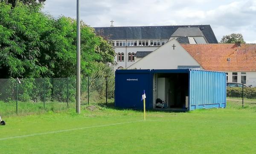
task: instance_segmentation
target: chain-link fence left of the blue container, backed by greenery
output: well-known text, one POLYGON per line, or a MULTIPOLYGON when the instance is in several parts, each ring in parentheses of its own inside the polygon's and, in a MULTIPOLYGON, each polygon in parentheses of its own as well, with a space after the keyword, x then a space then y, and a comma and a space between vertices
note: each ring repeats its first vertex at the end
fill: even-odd
MULTIPOLYGON (((81 104, 106 104, 114 78, 81 79, 81 104)), ((0 113, 37 113, 75 108, 76 78, 0 79, 0 113)))

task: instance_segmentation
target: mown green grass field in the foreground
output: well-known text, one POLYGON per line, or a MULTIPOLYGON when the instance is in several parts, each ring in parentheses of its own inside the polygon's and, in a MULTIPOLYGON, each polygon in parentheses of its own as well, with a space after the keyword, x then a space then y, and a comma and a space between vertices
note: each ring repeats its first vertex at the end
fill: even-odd
POLYGON ((0 154, 255 154, 256 100, 187 113, 99 107, 8 116, 0 154))

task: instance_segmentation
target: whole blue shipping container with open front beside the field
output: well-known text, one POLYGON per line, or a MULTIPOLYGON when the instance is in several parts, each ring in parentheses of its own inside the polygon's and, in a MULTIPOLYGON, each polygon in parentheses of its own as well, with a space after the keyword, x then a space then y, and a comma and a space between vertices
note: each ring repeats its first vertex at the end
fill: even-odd
POLYGON ((116 70, 115 106, 143 109, 141 97, 146 93, 146 108, 195 110, 226 107, 226 74, 203 70, 116 70), (163 107, 163 106, 162 106, 163 107))

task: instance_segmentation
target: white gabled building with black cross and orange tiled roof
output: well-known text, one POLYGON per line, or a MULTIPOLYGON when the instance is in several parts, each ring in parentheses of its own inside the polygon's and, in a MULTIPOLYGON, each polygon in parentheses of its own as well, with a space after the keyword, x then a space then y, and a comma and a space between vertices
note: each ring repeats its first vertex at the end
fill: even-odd
POLYGON ((172 39, 128 69, 218 71, 227 74, 227 82, 256 87, 256 44, 180 44, 172 39))

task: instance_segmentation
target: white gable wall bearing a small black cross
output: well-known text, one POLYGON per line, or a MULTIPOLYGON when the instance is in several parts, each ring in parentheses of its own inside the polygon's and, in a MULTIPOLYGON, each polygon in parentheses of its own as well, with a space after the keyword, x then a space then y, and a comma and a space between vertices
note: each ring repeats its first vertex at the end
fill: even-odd
POLYGON ((200 64, 176 39, 172 39, 127 69, 177 69, 178 66, 200 66, 200 64))

